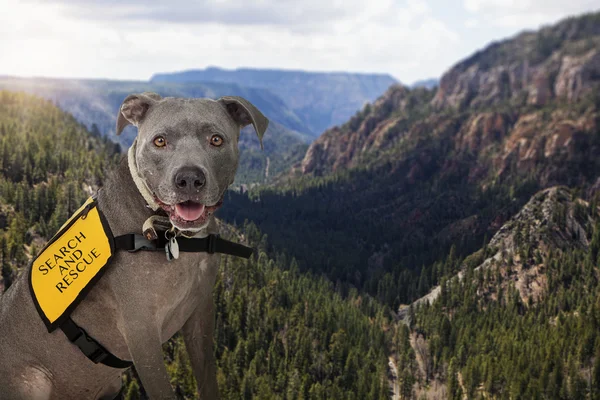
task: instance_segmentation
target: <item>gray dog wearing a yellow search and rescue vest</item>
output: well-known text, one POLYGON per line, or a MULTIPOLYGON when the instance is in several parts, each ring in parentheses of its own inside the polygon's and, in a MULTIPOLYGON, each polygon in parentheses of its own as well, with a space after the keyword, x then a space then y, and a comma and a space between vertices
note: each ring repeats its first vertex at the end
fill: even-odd
MULTIPOLYGON (((181 231, 216 233, 212 213, 233 182, 240 129, 252 124, 262 140, 265 116, 239 97, 161 99, 143 93, 123 102, 117 133, 128 124, 138 127, 135 151, 98 194, 114 235, 141 234, 154 214, 149 202, 181 231), (139 182, 146 193, 138 190, 139 182)), ((168 262, 163 252, 119 251, 72 319, 113 355, 132 360, 152 399, 175 398, 162 344, 181 331, 200 398, 218 398, 212 290, 219 258, 182 253, 168 262)), ((48 333, 28 275, 23 271, 0 299, 0 398, 113 399, 123 370, 94 364, 60 330, 48 333)))

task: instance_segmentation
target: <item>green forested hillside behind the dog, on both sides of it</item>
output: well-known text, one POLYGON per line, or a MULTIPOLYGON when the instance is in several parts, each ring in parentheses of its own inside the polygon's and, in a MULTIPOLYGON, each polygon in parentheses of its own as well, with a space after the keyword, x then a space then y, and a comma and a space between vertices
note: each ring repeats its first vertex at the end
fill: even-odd
MULTIPOLYGON (((51 102, 0 91, 0 294, 102 185, 117 151, 51 102)), ((250 260, 222 258, 215 287, 221 398, 386 399, 389 309, 358 292, 342 297, 327 280, 299 272, 294 259, 267 251, 253 224, 221 228, 257 249, 250 260)), ((164 354, 178 397, 194 398, 181 337, 164 354)), ((124 377, 125 397, 146 398, 135 376, 124 377)))

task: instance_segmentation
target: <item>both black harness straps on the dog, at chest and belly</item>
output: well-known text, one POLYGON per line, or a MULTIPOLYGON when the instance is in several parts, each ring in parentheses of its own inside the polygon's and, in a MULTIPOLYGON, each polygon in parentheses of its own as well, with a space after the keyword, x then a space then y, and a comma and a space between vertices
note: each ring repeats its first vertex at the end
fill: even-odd
MULTIPOLYGON (((136 251, 165 251, 168 240, 165 232, 159 232, 158 239, 150 241, 142 235, 129 233, 114 238, 116 250, 136 251)), ((219 235, 208 235, 205 238, 178 237, 179 251, 186 253, 222 253, 236 257, 250 258, 252 248, 239 243, 222 239, 219 235)), ((94 338, 77 325, 71 317, 66 318, 60 325, 60 329, 69 341, 81 350, 81 352, 95 364, 101 363, 113 368, 129 368, 133 365, 131 361, 121 360, 106 350, 94 338)))

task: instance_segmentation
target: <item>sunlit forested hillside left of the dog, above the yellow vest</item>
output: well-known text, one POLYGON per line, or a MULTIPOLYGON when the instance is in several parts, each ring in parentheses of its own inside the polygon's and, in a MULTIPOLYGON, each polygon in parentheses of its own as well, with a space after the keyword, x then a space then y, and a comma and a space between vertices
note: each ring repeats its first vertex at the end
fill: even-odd
POLYGON ((0 288, 102 185, 118 151, 49 101, 0 91, 0 288))

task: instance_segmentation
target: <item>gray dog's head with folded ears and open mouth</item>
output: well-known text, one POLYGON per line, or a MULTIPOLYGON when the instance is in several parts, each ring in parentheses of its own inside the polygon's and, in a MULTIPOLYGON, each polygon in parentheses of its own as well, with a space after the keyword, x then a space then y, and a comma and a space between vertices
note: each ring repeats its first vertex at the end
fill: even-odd
POLYGON ((240 129, 252 124, 262 145, 269 121, 241 97, 163 99, 142 93, 123 101, 117 134, 129 124, 138 128, 140 178, 174 226, 194 231, 208 224, 233 183, 240 129))

